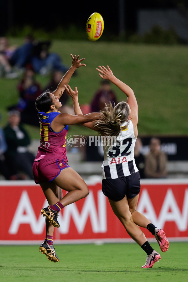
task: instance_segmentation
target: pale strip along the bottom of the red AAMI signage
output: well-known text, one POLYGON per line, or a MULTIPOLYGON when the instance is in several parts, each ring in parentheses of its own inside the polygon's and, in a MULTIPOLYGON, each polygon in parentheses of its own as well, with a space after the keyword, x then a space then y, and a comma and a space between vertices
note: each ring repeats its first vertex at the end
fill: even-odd
MULTIPOLYGON (((169 242, 188 242, 188 237, 168 237, 169 242)), ((148 242, 156 243, 152 238, 148 242)), ((78 240, 55 240, 55 244, 96 244, 104 243, 136 243, 131 238, 102 238, 102 239, 78 239, 78 240)), ((1 240, 0 245, 39 245, 39 240, 1 240)))

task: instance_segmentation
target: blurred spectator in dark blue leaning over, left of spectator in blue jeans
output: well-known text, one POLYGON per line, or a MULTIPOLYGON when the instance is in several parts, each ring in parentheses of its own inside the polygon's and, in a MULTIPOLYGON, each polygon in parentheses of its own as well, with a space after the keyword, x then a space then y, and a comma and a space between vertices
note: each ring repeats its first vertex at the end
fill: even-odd
POLYGON ((24 70, 26 65, 31 61, 34 42, 35 39, 31 34, 26 35, 24 44, 19 46, 10 57, 10 65, 14 66, 17 70, 24 70))

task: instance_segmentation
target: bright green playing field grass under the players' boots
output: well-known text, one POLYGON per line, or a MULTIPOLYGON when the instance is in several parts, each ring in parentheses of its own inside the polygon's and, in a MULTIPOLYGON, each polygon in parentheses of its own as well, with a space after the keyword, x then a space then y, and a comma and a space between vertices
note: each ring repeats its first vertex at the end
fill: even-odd
MULTIPOLYGON (((151 244, 159 252, 159 245, 151 244)), ((146 255, 136 243, 55 247, 59 263, 48 261, 39 246, 1 246, 0 281, 188 281, 187 242, 170 243, 152 269, 141 269, 146 255)))

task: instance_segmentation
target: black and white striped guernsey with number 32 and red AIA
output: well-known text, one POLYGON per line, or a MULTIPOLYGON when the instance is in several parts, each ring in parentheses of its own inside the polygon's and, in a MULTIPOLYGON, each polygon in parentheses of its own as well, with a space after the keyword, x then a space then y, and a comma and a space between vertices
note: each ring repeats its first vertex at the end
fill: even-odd
MULTIPOLYGON (((122 127, 126 124, 127 122, 123 123, 122 127)), ((134 161, 135 142, 133 123, 129 120, 128 127, 120 132, 113 146, 103 147, 103 179, 124 177, 138 171, 134 161)))

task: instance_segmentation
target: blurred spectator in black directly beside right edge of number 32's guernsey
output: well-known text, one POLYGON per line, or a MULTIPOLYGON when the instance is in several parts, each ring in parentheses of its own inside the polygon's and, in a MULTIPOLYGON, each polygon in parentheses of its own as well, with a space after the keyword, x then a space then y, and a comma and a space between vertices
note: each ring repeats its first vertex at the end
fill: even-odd
POLYGON ((140 152, 141 148, 142 148, 142 140, 141 138, 137 137, 134 146, 134 160, 139 170, 140 178, 143 179, 145 178, 145 174, 144 174, 145 158, 144 155, 140 152))

